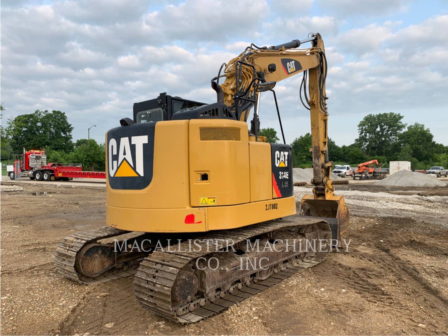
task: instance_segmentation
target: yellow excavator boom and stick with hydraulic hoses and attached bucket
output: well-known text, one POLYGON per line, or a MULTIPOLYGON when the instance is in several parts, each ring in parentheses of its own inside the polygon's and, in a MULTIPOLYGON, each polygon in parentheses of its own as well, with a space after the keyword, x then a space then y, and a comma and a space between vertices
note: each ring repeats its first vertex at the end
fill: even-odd
MULTIPOLYGON (((258 113, 260 93, 271 90, 276 82, 303 74, 300 99, 310 110, 313 156, 313 195, 302 198, 301 214, 326 219, 333 231, 333 237, 344 232, 349 223, 349 210, 342 196, 333 194, 332 162, 328 159, 328 112, 325 94, 327 75, 327 60, 320 34, 310 34, 308 39, 293 40, 288 43, 271 47, 257 47, 251 44, 239 56, 224 64, 224 74, 219 73, 212 82, 219 82, 225 76, 222 84, 223 102, 235 113, 240 121, 249 119, 250 109, 258 113), (302 43, 311 42, 306 49, 296 49, 302 43), (306 79, 308 78, 308 93, 306 94, 306 79), (304 98, 302 99, 302 87, 304 98), (305 100, 305 101, 303 101, 305 100)), ((215 87, 218 86, 215 84, 215 87)), ((258 116, 254 116, 258 126, 258 116)), ((255 129, 255 136, 258 127, 255 129)))

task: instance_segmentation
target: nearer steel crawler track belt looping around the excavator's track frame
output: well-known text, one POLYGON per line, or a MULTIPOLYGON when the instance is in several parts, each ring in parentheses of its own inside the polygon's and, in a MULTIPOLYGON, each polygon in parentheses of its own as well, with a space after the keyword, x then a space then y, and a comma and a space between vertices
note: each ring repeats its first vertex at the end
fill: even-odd
POLYGON ((140 263, 137 274, 134 276, 137 301, 155 314, 173 322, 195 323, 218 314, 233 304, 251 297, 299 271, 313 267, 326 258, 325 252, 297 252, 293 257, 289 256, 286 260, 282 260, 280 265, 277 265, 279 266, 276 268, 277 271, 264 280, 257 281, 255 276, 249 278, 244 276, 239 279, 239 282, 233 280, 232 283, 220 286, 220 290, 215 289, 212 294, 199 295, 181 304, 173 298, 177 293, 176 284, 179 282, 179 277, 185 277, 185 270, 191 269, 194 260, 218 251, 215 246, 224 249, 231 246, 226 244, 222 246, 223 240, 232 241, 238 245, 251 237, 288 228, 314 228, 322 239, 331 239, 331 230, 327 222, 298 215, 242 228, 210 232, 197 238, 207 241, 207 243, 199 244, 203 247, 202 250, 206 249, 205 252, 202 250, 185 252, 189 243, 184 242, 179 246, 174 246, 170 251, 154 251, 146 257, 140 263))

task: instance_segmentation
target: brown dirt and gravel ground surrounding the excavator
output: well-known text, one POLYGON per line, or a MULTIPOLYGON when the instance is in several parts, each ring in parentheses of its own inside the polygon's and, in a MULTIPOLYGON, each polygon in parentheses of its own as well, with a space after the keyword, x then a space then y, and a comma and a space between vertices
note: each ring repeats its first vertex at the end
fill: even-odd
MULTIPOLYGON (((294 189, 298 198, 311 191, 294 189)), ((343 235, 352 240, 349 252, 331 253, 222 314, 181 326, 140 306, 132 278, 85 286, 55 272, 60 239, 105 225, 105 191, 2 192, 1 333, 448 335, 448 187, 361 183, 337 194, 350 209, 343 235)))

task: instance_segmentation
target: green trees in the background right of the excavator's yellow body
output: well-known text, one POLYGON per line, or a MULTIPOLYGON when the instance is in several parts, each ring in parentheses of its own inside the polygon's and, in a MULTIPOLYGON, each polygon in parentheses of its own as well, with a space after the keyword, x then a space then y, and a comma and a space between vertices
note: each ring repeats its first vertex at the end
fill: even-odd
MULTIPOLYGON (((400 113, 379 113, 365 116, 358 124, 358 138, 349 145, 338 146, 328 139, 328 157, 338 164, 356 165, 377 159, 388 167, 389 161, 410 161, 412 169, 431 166, 448 168, 448 146, 434 141, 429 128, 420 123, 407 125, 400 113)), ((261 129, 260 135, 268 142, 277 142, 273 128, 261 129)), ((293 167, 311 167, 311 134, 307 133, 291 142, 293 167)))

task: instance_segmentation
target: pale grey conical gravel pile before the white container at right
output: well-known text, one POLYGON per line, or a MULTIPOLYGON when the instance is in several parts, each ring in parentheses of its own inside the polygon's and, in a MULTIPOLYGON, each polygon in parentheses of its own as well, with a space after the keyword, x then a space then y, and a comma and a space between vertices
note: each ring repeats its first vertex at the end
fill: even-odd
POLYGON ((437 180, 434 176, 422 174, 421 172, 409 172, 400 170, 375 183, 384 187, 444 187, 446 183, 437 180))

